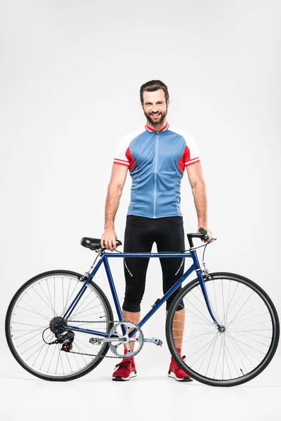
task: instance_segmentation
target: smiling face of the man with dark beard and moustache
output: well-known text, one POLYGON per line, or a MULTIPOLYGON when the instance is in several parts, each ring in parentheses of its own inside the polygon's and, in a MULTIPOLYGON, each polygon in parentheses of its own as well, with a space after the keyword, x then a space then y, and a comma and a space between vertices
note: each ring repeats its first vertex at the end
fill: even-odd
POLYGON ((164 126, 170 100, 165 100, 163 89, 143 92, 143 112, 152 126, 164 126))

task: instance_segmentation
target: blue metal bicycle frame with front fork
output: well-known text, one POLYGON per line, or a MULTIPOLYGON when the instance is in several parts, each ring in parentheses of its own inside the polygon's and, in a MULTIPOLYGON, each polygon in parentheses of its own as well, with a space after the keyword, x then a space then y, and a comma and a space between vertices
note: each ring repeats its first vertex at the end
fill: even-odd
MULTIPOLYGON (((178 286, 180 286, 181 283, 183 283, 183 281, 193 271, 195 271, 197 273, 197 277, 198 277, 198 280, 200 282, 200 286, 202 288, 202 293, 204 295, 204 300, 206 302, 207 309, 209 310, 209 314, 211 316, 211 319, 213 319, 214 323, 216 324, 216 326, 218 326, 218 328, 221 328, 221 326, 218 324, 218 321, 216 321, 216 319, 214 317, 214 314, 211 310, 209 298, 208 298, 208 295, 207 295, 207 290, 206 290, 206 287, 205 287, 205 284, 204 284, 202 269, 200 268, 200 264, 199 264, 199 261, 198 261, 198 258, 197 258, 197 253, 196 253, 195 250, 190 251, 190 253, 185 253, 185 252, 183 252, 183 253, 169 253, 169 252, 165 252, 165 253, 105 253, 105 252, 102 252, 100 260, 98 260, 98 263, 93 268, 91 274, 89 274, 86 281, 84 281, 83 286, 81 286, 81 289, 79 290, 79 293, 74 298, 72 304, 70 305, 70 307, 67 309, 67 311, 63 315, 63 320, 66 320, 67 318, 70 317, 70 315, 74 311, 74 308, 77 306, 77 303, 79 302, 81 296, 84 294, 84 292, 86 290, 86 287, 87 287, 87 284, 93 278, 93 276, 96 275, 96 272, 98 272, 98 269, 100 268, 100 265, 102 265, 102 264, 105 265, 105 272, 107 274, 107 279, 108 279, 108 282, 110 284, 110 290, 112 292, 112 297, 113 297, 113 300, 115 302, 115 308, 116 308, 116 311, 117 311, 117 315, 119 317, 119 321, 124 320, 123 316, 122 316, 122 309, 120 307, 119 299, 118 299, 117 292, 116 292, 116 289, 115 289, 115 283, 113 281, 112 274, 111 274, 111 271, 110 271, 110 265, 108 263, 108 258, 192 258, 193 264, 190 266, 190 268, 183 274, 183 276, 181 276, 180 279, 178 279, 178 281, 176 281, 176 283, 174 283, 174 285, 169 289, 169 291, 165 295, 163 295, 163 297, 161 299, 156 300, 155 304, 152 306, 152 309, 147 314, 145 314, 143 319, 141 319, 141 321, 138 323, 138 326, 141 328, 141 326, 143 326, 146 323, 146 321, 148 321, 148 319, 150 319, 152 314, 157 312, 157 309, 159 309, 159 307, 162 306, 162 304, 170 297, 170 295, 172 293, 174 293, 174 291, 178 288, 178 286)), ((61 326, 63 326, 62 322, 61 322, 61 326)), ((65 327, 65 325, 64 325, 64 327, 65 327)), ((103 332, 96 331, 96 330, 78 328, 76 326, 70 326, 69 324, 67 324, 67 329, 76 330, 76 331, 83 332, 83 333, 89 333, 91 335, 103 336, 105 338, 107 338, 107 336, 108 336, 107 333, 103 333, 103 332)), ((131 337, 135 333, 136 333, 136 329, 133 329, 133 330, 131 330, 131 333, 130 333, 129 336, 131 337)))

